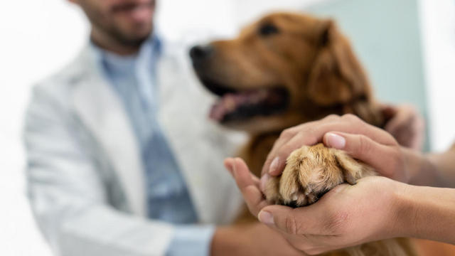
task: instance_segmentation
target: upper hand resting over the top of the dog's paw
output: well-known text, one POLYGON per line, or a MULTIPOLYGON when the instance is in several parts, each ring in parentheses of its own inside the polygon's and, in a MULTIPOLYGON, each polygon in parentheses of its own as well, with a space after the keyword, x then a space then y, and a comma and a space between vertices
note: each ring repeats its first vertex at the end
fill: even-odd
POLYGON ((345 114, 341 117, 330 115, 284 130, 267 156, 262 169, 262 183, 267 182, 269 175, 282 173, 292 151, 321 141, 326 146, 343 149, 353 158, 372 166, 382 176, 403 182, 410 180, 405 151, 392 135, 352 114, 345 114))

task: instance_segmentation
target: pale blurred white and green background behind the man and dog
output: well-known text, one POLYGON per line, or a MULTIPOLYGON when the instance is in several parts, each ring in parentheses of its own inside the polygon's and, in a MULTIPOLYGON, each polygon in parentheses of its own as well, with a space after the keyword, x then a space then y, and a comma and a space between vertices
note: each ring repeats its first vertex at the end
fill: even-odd
MULTIPOLYGON (((196 41, 235 36, 272 10, 331 17, 350 38, 383 102, 415 105, 427 119, 427 149, 455 138, 454 0, 159 0, 160 33, 196 41)), ((87 43, 88 23, 65 0, 0 3, 0 255, 49 255, 26 201, 23 112, 35 82, 87 43)))

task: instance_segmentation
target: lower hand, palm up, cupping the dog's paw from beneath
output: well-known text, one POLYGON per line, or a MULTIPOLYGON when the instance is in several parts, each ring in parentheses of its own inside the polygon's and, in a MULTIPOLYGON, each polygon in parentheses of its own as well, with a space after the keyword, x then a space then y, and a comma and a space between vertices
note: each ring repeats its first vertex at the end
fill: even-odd
POLYGON ((308 254, 392 238, 405 230, 400 229, 397 198, 406 185, 389 178, 362 178, 354 186, 336 186, 311 206, 289 208, 267 203, 259 180, 242 159, 226 159, 225 166, 234 176, 251 213, 308 254))

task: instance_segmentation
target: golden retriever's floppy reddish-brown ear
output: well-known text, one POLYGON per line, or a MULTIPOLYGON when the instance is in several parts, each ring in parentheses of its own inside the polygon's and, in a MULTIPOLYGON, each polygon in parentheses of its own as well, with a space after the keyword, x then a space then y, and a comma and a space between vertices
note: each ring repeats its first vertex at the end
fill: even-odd
POLYGON ((323 21, 319 53, 309 73, 307 93, 319 105, 349 102, 353 97, 369 95, 368 80, 333 21, 323 21))

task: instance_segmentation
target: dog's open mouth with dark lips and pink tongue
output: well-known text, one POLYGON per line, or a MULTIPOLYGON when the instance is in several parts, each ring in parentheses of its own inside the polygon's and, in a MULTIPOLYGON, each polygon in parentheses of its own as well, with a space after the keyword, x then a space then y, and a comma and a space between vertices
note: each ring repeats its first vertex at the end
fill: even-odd
POLYGON ((220 96, 210 110, 210 119, 220 123, 279 114, 289 105, 289 92, 283 87, 235 90, 218 82, 202 82, 210 92, 220 96))

